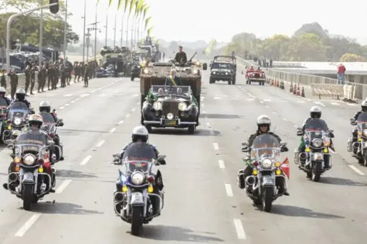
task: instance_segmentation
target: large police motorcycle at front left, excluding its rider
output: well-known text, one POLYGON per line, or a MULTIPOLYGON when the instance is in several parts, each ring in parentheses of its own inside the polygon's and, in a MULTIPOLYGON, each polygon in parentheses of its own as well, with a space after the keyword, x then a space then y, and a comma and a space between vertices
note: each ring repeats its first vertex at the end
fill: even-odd
POLYGON ((6 144, 8 149, 13 150, 11 157, 15 164, 15 170, 8 174, 8 190, 22 199, 24 210, 29 211, 31 204, 36 204, 55 187, 56 172, 50 165, 50 150, 57 146, 42 134, 27 132, 20 134, 16 140, 8 139, 6 144), (11 189, 10 183, 17 181, 19 185, 11 189))

